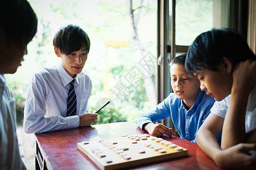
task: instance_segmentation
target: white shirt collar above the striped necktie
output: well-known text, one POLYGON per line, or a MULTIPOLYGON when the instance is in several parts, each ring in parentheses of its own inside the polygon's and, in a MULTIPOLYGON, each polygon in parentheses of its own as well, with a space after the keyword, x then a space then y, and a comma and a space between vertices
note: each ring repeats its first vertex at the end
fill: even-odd
POLYGON ((76 75, 75 78, 72 78, 72 76, 70 76, 68 74, 68 72, 63 68, 61 62, 59 62, 57 65, 56 65, 56 70, 57 72, 59 73, 60 75, 60 78, 62 80, 62 83, 63 83, 63 86, 67 86, 67 84, 69 84, 73 79, 76 79, 76 82, 79 84, 79 74, 76 75))

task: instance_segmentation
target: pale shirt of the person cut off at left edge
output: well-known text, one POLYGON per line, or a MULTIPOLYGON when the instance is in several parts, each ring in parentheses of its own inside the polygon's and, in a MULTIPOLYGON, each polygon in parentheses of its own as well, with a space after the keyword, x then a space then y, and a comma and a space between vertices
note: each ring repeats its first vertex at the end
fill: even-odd
POLYGON ((22 169, 16 134, 15 99, 0 74, 0 169, 22 169))

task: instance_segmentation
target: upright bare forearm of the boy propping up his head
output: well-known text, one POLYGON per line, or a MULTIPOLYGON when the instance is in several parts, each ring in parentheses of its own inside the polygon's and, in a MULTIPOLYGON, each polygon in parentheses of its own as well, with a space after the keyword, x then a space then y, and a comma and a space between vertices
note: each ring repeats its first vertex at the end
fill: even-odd
POLYGON ((232 96, 222 129, 221 148, 245 142, 245 113, 249 93, 232 88, 232 96))

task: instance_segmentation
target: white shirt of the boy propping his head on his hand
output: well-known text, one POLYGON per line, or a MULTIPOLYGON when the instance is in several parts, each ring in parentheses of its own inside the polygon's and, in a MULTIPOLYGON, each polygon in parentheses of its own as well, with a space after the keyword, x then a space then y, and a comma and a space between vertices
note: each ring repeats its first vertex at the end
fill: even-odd
MULTIPOLYGON (((221 101, 216 101, 210 110, 213 114, 216 114, 219 117, 225 118, 226 112, 228 111, 229 102, 231 99, 231 95, 225 97, 225 99, 221 101)), ((245 131, 246 133, 250 130, 256 128, 256 86, 251 90, 247 108, 245 113, 245 131)))

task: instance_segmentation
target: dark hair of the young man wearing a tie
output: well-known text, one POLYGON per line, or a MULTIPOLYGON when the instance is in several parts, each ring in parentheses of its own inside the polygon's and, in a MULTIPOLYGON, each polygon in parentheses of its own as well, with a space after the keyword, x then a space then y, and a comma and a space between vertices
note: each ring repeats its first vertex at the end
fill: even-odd
POLYGON ((87 33, 77 25, 68 25, 60 28, 53 39, 53 46, 60 50, 60 53, 71 54, 85 47, 87 53, 90 50, 90 39, 87 33))

